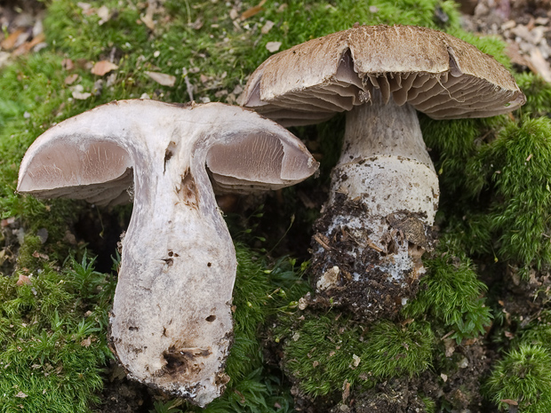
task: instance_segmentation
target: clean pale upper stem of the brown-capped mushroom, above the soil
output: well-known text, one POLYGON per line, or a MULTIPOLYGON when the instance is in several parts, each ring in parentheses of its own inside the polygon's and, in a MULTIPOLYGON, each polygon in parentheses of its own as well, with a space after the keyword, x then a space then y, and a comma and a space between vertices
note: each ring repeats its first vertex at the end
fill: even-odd
POLYGON ((387 216, 407 210, 433 224, 438 178, 413 107, 399 107, 391 98, 387 105, 376 100, 347 113, 330 204, 339 193, 350 199, 360 197, 371 214, 387 216))

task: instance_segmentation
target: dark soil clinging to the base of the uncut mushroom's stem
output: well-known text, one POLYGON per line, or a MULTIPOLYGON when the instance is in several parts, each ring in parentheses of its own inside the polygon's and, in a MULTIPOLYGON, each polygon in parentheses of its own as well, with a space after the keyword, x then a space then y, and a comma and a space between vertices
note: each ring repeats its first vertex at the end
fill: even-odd
POLYGON ((345 307, 363 322, 394 320, 417 294, 420 257, 432 244, 430 228, 415 214, 372 217, 361 201, 337 194, 314 225, 310 274, 316 294, 310 304, 345 307))

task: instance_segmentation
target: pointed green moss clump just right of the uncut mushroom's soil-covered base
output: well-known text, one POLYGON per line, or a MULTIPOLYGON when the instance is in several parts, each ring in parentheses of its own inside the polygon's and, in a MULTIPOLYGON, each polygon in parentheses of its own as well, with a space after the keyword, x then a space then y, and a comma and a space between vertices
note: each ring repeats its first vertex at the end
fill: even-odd
POLYGON ((443 239, 432 258, 424 260, 427 275, 420 280, 420 291, 403 308, 406 317, 428 317, 445 330, 458 344, 464 338, 485 333, 491 324, 491 310, 484 305, 486 285, 477 279, 474 266, 465 254, 451 255, 456 250, 443 239), (446 252, 444 252, 446 251, 446 252))

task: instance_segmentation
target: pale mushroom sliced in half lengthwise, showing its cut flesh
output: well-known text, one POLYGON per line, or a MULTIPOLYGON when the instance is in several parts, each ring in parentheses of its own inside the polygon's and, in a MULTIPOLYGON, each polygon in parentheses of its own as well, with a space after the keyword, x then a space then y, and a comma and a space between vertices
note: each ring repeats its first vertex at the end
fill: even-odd
POLYGON ((236 277, 209 173, 223 191, 249 191, 316 169, 299 139, 251 110, 121 100, 44 132, 21 162, 17 190, 98 205, 133 198, 110 345, 129 377, 204 406, 229 380, 236 277))

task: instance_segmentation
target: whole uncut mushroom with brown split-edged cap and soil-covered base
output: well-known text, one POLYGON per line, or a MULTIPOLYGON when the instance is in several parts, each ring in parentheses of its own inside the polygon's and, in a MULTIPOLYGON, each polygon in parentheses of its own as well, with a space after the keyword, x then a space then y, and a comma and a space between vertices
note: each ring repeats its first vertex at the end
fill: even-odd
POLYGON ((347 111, 330 197, 314 228, 317 298, 369 319, 395 316, 414 296, 439 197, 416 110, 472 118, 524 101, 498 61, 429 28, 356 26, 262 63, 244 106, 285 126, 347 111))

